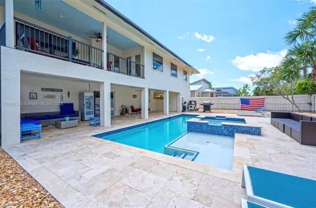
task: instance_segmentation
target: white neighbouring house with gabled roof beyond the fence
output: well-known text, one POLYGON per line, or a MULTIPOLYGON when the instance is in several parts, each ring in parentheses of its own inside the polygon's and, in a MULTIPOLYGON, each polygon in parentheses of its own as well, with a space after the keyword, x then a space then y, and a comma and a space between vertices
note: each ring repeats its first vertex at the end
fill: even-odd
POLYGON ((209 83, 210 82, 204 78, 190 83, 190 97, 214 97, 215 91, 209 89, 209 83))

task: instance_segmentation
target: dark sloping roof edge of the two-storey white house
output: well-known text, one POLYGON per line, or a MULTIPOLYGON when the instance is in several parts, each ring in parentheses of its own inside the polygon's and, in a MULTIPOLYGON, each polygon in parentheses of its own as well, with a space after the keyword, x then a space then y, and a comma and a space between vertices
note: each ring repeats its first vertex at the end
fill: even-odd
POLYGON ((199 73, 199 71, 194 68, 193 66, 191 66, 190 64, 188 64, 186 61, 184 61, 182 58, 180 58, 177 54, 175 54, 174 52, 172 52, 169 48, 167 48, 166 46, 164 46, 162 43, 160 43, 157 39, 155 39, 152 35, 149 35, 147 32, 145 32, 143 29, 141 29, 139 26, 137 26, 135 23, 133 23, 130 19, 128 19, 127 17, 125 17, 122 13, 120 13, 118 10, 116 10, 115 8, 113 8, 110 4, 108 4, 107 2, 105 2, 104 0, 94 0, 97 3, 99 3, 100 5, 102 5, 104 8, 108 9, 110 12, 112 12, 113 14, 115 14, 116 16, 118 16, 118 18, 120 18, 121 20, 123 20, 124 22, 126 22, 128 25, 132 26, 134 29, 136 29, 137 31, 139 31, 141 34, 145 35, 146 37, 148 37, 149 39, 151 39, 152 41, 154 41, 156 44, 158 44, 161 48, 163 48, 164 50, 166 50, 167 52, 171 53, 173 56, 175 56, 177 59, 179 59, 181 62, 183 62, 185 65, 188 65, 191 69, 193 69, 195 72, 199 73))

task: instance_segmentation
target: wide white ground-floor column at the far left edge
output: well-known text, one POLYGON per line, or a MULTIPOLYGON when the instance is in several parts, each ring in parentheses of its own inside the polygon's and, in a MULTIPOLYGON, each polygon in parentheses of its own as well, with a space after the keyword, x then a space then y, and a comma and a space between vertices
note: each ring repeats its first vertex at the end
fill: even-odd
MULTIPOLYGON (((2 56, 3 59, 3 56, 2 56)), ((3 61, 3 60, 2 60, 3 61)), ((20 70, 1 66, 1 145, 20 143, 20 70)), ((25 103, 24 103, 25 104, 25 103)))

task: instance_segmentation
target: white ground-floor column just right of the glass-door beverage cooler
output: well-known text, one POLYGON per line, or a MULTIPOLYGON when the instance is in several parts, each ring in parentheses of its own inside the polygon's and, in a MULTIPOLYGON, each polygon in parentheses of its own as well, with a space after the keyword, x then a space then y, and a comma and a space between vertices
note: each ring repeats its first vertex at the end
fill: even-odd
POLYGON ((111 83, 100 83, 101 126, 111 126, 111 83))

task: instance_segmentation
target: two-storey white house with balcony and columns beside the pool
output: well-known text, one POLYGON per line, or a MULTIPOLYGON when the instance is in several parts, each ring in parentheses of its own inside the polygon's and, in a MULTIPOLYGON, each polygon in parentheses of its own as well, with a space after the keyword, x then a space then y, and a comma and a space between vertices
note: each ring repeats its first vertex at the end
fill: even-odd
POLYGON ((59 111, 62 100, 79 110, 80 92, 99 97, 101 126, 121 105, 141 107, 146 119, 149 107, 181 112, 190 100, 197 69, 108 3, 41 0, 38 12, 35 2, 0 1, 1 145, 20 142, 22 113, 59 111), (49 105, 32 105, 40 102, 49 105))

